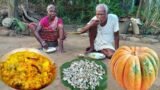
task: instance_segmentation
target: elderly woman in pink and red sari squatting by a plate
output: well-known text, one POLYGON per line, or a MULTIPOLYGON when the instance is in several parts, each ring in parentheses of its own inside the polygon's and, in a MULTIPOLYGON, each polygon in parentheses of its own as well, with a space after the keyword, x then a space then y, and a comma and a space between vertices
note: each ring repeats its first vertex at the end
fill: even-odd
POLYGON ((65 39, 63 21, 56 16, 56 7, 48 5, 48 15, 43 17, 39 24, 29 24, 29 28, 33 31, 36 39, 42 48, 59 46, 58 50, 63 52, 63 40, 65 39))

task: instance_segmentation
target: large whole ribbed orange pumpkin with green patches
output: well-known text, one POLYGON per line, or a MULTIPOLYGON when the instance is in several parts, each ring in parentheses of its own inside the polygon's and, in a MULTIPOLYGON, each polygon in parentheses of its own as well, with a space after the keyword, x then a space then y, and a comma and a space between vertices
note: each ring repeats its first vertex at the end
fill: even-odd
POLYGON ((158 75, 159 58, 147 47, 120 47, 111 58, 111 71, 127 90, 148 90, 158 75))

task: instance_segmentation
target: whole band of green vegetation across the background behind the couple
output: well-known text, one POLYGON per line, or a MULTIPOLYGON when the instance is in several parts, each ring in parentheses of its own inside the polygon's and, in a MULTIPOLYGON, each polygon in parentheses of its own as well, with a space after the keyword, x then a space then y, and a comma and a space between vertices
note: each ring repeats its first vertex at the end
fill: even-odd
MULTIPOLYGON (((10 1, 10 0, 8 0, 10 1)), ((8 3, 0 0, 1 5, 8 3)), ((140 18, 145 33, 158 31, 160 27, 160 0, 14 0, 27 5, 29 14, 36 13, 41 17, 46 15, 48 4, 57 6, 58 16, 65 24, 84 24, 95 15, 95 7, 98 3, 105 3, 109 7, 109 13, 118 17, 140 18)), ((7 4, 9 6, 9 4, 7 4)))

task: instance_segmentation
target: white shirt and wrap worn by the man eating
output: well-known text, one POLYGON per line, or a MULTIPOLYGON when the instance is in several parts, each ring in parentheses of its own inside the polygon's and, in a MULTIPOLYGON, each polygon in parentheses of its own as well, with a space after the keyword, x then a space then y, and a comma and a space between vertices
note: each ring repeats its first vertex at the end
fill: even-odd
MULTIPOLYGON (((97 17, 91 19, 94 20, 97 17)), ((114 14, 108 14, 107 23, 104 26, 98 25, 97 27, 97 36, 94 41, 94 49, 100 51, 103 49, 112 49, 114 48, 114 32, 119 30, 118 17, 114 14)))

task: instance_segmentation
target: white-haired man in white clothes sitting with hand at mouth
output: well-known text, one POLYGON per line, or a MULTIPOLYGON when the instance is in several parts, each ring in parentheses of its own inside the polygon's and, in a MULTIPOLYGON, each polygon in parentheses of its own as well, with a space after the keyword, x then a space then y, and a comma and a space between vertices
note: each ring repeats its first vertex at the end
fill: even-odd
POLYGON ((119 47, 119 22, 114 14, 108 14, 105 4, 96 6, 94 16, 86 26, 80 30, 80 34, 89 30, 90 47, 86 53, 100 51, 106 57, 111 58, 119 47))

